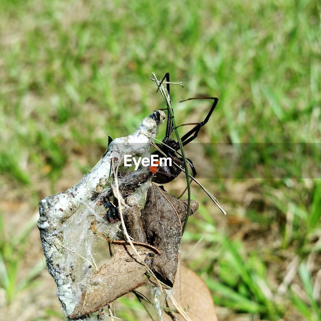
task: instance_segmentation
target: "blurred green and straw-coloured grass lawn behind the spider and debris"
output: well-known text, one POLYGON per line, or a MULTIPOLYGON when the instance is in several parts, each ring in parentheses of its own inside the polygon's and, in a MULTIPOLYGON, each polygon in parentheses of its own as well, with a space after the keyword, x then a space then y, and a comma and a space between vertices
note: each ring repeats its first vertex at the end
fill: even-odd
MULTIPOLYGON (((170 72, 185 85, 171 92, 180 124, 204 119, 209 103, 179 100, 220 99, 198 141, 232 150, 319 143, 320 57, 317 0, 1 0, 3 313, 62 318, 55 284, 42 270, 37 204, 96 164, 106 133, 129 134, 164 108, 152 72, 170 72)), ((319 168, 320 148, 311 146, 292 158, 319 168)), ((192 185, 200 209, 184 235, 184 263, 206 281, 220 320, 321 320, 321 183, 282 163, 282 148, 259 150, 259 169, 278 162, 286 177, 248 173, 244 162, 237 178, 204 182, 226 217, 192 185)), ((224 171, 215 149, 206 157, 224 171)), ((182 182, 166 188, 179 195, 182 182)), ((123 320, 143 316, 131 297, 115 306, 123 320)))

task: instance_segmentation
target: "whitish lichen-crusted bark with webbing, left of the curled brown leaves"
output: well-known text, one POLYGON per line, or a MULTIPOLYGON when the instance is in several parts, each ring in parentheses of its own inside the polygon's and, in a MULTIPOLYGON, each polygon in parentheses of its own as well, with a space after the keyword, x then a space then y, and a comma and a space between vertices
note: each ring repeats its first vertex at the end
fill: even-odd
MULTIPOLYGON (((73 313, 84 284, 104 263, 99 262, 97 248, 106 241, 93 233, 93 221, 101 234, 119 239, 119 224, 109 223, 107 217, 112 207, 107 210, 104 206, 112 196, 111 160, 113 158, 117 164, 125 154, 150 154, 150 143, 164 119, 162 111, 153 112, 143 119, 134 134, 112 141, 108 152, 79 183, 39 203, 38 228, 48 270, 57 283, 57 295, 68 316, 73 313)), ((129 206, 143 208, 149 185, 147 169, 119 178, 119 188, 127 196, 129 206)))

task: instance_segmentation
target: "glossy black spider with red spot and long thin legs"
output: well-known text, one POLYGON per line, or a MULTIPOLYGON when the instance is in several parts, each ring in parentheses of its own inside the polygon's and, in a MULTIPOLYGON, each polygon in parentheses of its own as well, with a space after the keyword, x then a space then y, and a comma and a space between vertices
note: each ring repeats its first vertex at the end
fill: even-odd
MULTIPOLYGON (((166 89, 169 93, 169 73, 166 73, 162 81, 160 82, 157 91, 159 90, 159 87, 166 79, 166 89)), ((185 135, 181 137, 181 141, 183 143, 183 146, 190 143, 192 140, 194 140, 200 131, 200 129, 208 122, 210 119, 214 108, 217 105, 217 102, 219 101, 218 98, 215 97, 195 97, 195 98, 188 98, 185 100, 181 100, 180 102, 187 101, 187 100, 194 100, 194 99, 213 99, 213 105, 205 117, 205 119, 200 123, 190 123, 190 124, 183 124, 180 126, 186 126, 186 125, 196 125, 194 128, 192 128, 190 131, 188 131, 185 135)), ((173 162, 175 162, 178 166, 165 166, 165 165, 159 165, 159 166, 150 166, 149 170, 154 173, 154 176, 152 178, 152 182, 155 182, 157 184, 166 184, 171 182, 174 178, 176 178, 179 173, 182 171, 182 168, 184 168, 184 161, 182 157, 177 157, 175 155, 175 152, 179 150, 179 143, 175 140, 170 138, 170 135, 172 134, 174 130, 174 125, 172 124, 172 118, 168 112, 167 114, 167 126, 166 126, 166 134, 164 139, 162 140, 162 143, 156 144, 158 147, 158 150, 152 153, 152 155, 159 157, 163 157, 164 154, 167 155, 167 157, 170 157, 173 162)), ((191 160, 187 158, 189 165, 192 169, 193 177, 196 176, 196 169, 192 163, 191 160)))

